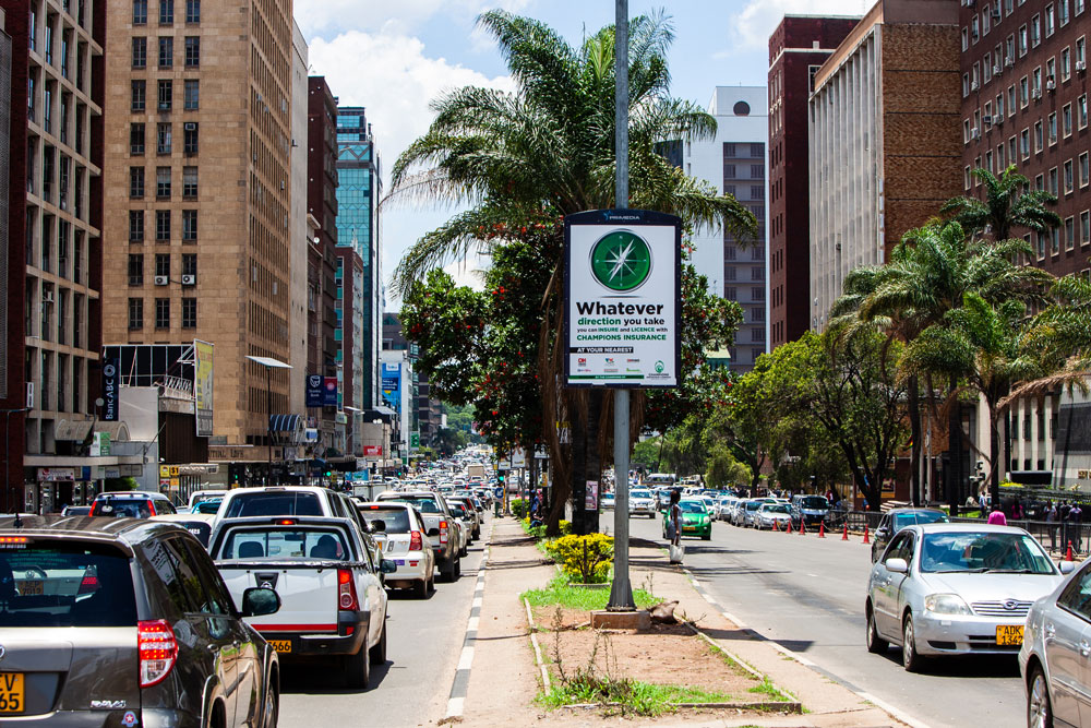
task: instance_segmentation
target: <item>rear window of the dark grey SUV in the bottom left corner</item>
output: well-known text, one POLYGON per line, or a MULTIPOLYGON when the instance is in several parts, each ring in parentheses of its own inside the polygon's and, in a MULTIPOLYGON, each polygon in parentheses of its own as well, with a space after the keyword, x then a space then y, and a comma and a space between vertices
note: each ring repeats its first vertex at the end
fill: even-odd
POLYGON ((27 541, 0 547, 0 628, 136 624, 127 556, 107 545, 27 541))

